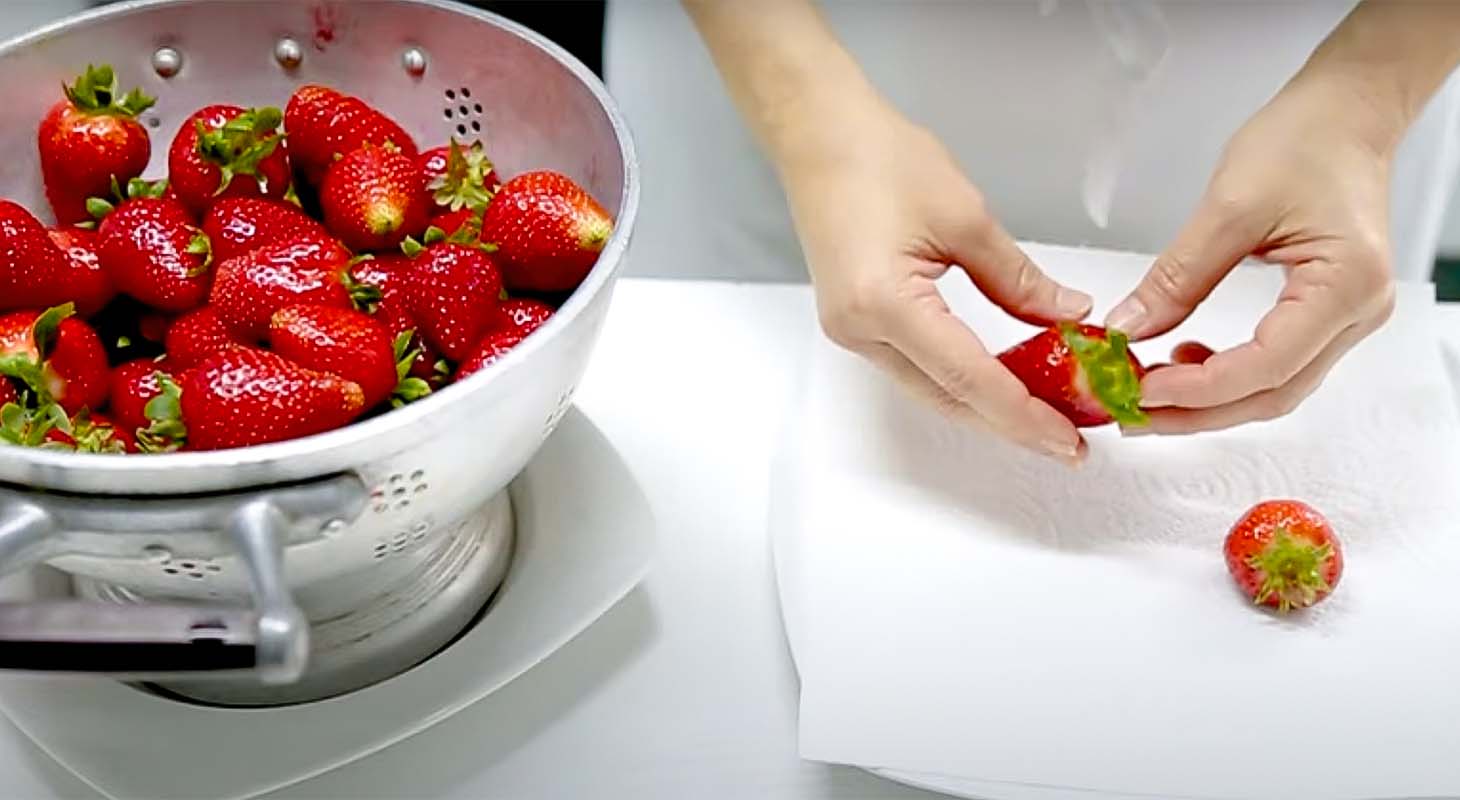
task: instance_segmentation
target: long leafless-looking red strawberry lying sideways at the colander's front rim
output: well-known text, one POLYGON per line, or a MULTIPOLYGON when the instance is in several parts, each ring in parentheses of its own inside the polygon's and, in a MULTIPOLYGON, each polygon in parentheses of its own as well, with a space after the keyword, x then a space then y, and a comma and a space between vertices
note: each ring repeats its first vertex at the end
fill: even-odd
POLYGON ((215 353, 182 382, 193 450, 251 447, 342 428, 365 410, 361 387, 267 350, 215 353))

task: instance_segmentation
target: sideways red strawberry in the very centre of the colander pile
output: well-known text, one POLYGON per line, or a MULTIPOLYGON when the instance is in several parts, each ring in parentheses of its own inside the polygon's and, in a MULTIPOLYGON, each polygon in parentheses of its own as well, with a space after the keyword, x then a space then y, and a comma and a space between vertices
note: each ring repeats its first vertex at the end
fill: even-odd
POLYGON ((299 236, 235 255, 218 266, 212 305, 248 342, 263 342, 269 320, 286 305, 350 307, 345 272, 350 253, 324 236, 299 236))

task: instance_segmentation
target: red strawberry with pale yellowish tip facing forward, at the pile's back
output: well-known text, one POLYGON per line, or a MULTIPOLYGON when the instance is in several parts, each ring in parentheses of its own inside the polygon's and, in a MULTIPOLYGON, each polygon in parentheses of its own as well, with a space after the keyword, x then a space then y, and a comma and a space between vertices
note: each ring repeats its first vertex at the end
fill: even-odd
POLYGON ((426 229, 425 180, 391 146, 364 146, 330 166, 320 188, 324 223, 350 250, 391 250, 426 229))

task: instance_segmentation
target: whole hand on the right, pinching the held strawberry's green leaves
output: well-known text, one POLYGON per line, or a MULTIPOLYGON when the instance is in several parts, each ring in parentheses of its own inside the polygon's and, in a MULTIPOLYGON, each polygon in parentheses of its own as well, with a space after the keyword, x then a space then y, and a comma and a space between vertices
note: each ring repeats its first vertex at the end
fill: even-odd
POLYGON ((1288 273, 1250 342, 1146 377, 1145 431, 1283 416, 1388 320, 1391 150, 1353 123, 1355 105, 1336 82, 1279 93, 1231 139, 1196 213, 1111 311, 1108 326, 1149 339, 1186 320, 1244 257, 1288 273))

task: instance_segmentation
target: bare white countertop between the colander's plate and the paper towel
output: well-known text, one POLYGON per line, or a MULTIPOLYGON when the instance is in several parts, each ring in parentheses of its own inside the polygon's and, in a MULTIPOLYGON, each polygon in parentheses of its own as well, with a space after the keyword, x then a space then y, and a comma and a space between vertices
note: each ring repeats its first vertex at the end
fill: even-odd
MULTIPOLYGON (((622 282, 578 403, 658 515, 650 577, 473 708, 269 799, 936 797, 796 755, 765 515, 812 324, 804 286, 622 282)), ((0 796, 98 797, 4 720, 0 796)))

